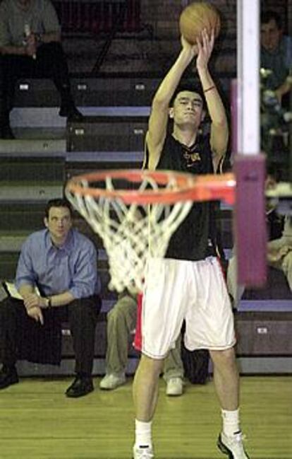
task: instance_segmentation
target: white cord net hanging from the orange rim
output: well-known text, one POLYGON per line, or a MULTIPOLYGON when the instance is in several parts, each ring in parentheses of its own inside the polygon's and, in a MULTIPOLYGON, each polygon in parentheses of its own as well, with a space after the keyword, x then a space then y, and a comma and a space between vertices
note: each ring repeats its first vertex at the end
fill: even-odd
MULTIPOLYGON (((187 216, 193 201, 125 204, 116 197, 87 194, 90 184, 85 178, 78 185, 83 188, 82 192, 72 192, 67 187, 66 195, 103 240, 109 258, 109 288, 141 291, 147 259, 164 257, 171 235, 187 216)), ((104 189, 114 190, 114 180, 110 176, 104 181, 104 189)), ((161 190, 161 187, 145 175, 138 191, 145 190, 161 190)), ((164 190, 178 190, 175 175, 169 175, 164 190)))

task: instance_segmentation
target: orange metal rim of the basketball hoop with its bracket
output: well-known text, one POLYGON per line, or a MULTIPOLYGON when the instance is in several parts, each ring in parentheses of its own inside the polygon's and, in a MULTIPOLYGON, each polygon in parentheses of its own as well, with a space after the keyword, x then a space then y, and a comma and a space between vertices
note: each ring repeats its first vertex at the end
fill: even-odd
POLYGON ((178 173, 173 170, 102 170, 95 173, 78 175, 71 178, 66 185, 66 190, 81 196, 104 197, 108 199, 121 199, 126 204, 171 204, 178 201, 209 201, 224 199, 232 203, 236 181, 232 173, 222 175, 192 175, 178 173), (176 189, 169 190, 104 190, 94 187, 94 182, 112 179, 124 179, 128 182, 139 183, 143 178, 149 177, 157 185, 167 185, 171 177, 176 180, 176 189), (82 185, 86 181, 87 185, 82 185))

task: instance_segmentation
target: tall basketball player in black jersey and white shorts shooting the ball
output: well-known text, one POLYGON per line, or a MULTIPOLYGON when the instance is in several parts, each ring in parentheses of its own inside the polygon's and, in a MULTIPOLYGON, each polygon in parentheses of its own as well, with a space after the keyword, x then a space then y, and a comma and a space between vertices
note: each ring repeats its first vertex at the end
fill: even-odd
MULTIPOLYGON (((224 157, 229 137, 224 105, 208 69, 214 33, 209 37, 204 30, 195 46, 189 45, 183 37, 181 43, 181 52, 152 101, 145 167, 212 173, 224 157), (195 56, 205 100, 193 88, 175 94, 183 72, 195 56), (205 101, 212 122, 209 136, 202 136, 199 130, 205 116, 205 101), (169 117, 174 122, 172 134, 167 130, 169 117)), ((233 315, 215 257, 213 231, 212 204, 195 202, 172 236, 166 257, 150 260, 147 267, 142 337, 137 337, 137 342, 142 338, 142 358, 133 384, 134 459, 154 458, 151 429, 159 374, 184 319, 185 346, 190 350, 207 348, 212 356, 214 384, 223 419, 217 445, 229 459, 248 459, 239 423, 233 315)))

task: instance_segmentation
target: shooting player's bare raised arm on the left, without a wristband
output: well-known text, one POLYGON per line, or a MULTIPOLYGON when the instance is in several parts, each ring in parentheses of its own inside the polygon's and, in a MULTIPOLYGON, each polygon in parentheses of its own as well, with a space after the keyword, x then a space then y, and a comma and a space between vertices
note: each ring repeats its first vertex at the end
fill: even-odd
POLYGON ((169 117, 169 103, 181 80, 183 72, 192 61, 197 47, 181 38, 182 49, 174 65, 164 77, 152 100, 146 146, 149 153, 148 168, 155 169, 162 151, 169 117))

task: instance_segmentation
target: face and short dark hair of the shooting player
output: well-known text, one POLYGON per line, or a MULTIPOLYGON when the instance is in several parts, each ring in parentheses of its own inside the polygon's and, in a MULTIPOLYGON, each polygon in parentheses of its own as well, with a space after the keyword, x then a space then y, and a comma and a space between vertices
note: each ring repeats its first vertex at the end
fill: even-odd
POLYGON ((174 107, 169 112, 175 124, 186 124, 197 128, 204 116, 203 103, 200 94, 192 91, 178 93, 174 100, 174 107))

